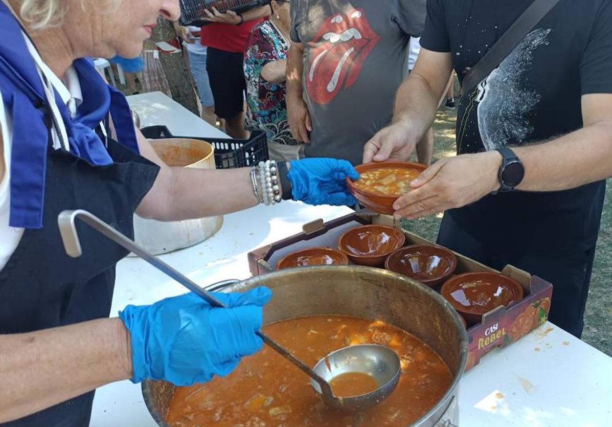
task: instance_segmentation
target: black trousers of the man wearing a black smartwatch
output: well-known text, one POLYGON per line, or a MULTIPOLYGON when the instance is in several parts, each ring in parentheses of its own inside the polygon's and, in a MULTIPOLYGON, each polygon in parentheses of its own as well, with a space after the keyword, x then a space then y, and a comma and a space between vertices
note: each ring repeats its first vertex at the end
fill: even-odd
POLYGON ((595 247, 587 251, 576 251, 564 255, 542 255, 529 253, 507 253, 504 247, 485 247, 471 234, 461 229, 453 218, 446 214, 438 234, 438 244, 468 256, 496 270, 507 264, 537 275, 553 284, 550 321, 580 338, 584 328, 584 307, 589 294, 589 283, 593 269, 595 247))

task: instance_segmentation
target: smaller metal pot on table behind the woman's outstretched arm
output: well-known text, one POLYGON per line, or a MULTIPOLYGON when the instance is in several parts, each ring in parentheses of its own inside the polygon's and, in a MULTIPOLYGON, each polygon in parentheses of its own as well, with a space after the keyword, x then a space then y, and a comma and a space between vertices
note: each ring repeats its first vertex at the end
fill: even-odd
MULTIPOLYGON (((152 139, 159 157, 170 166, 215 169, 214 148, 198 139, 152 139)), ((197 188, 194 191, 198 191, 197 188)), ((223 224, 223 217, 161 222, 134 215, 134 240, 153 254, 187 248, 208 239, 223 224)))

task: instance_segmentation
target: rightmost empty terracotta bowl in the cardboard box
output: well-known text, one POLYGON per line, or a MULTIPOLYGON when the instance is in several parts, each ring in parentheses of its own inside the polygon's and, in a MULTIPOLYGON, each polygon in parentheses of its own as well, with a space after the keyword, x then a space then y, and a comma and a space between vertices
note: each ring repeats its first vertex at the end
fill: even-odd
POLYGON ((494 308, 522 300, 523 286, 499 273, 464 273, 447 280, 440 293, 472 325, 494 308))

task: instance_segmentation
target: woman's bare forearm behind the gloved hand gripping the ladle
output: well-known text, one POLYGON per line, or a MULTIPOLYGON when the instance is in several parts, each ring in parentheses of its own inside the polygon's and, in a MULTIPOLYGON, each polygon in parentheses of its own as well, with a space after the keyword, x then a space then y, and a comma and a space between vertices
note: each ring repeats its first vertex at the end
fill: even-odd
POLYGON ((118 318, 0 335, 0 423, 130 377, 129 336, 118 318))

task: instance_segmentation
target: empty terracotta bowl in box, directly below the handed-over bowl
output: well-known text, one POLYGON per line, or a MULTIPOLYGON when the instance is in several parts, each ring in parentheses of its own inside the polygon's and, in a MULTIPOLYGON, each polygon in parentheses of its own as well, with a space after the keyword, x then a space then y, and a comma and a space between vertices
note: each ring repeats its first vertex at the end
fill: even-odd
POLYGON ((338 240, 338 248, 354 264, 381 267, 387 256, 405 242, 406 236, 397 228, 364 225, 346 231, 338 240))

